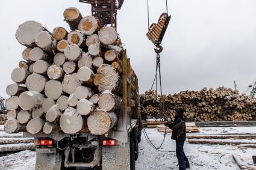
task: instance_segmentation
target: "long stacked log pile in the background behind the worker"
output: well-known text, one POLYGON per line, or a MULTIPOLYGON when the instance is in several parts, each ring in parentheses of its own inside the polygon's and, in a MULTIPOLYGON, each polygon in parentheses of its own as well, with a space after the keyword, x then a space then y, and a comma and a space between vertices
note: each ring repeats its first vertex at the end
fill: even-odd
POLYGON ((186 110, 186 121, 248 121, 255 120, 256 101, 239 91, 219 87, 216 90, 203 88, 201 91, 157 96, 156 91, 140 95, 142 118, 164 118, 174 120, 175 108, 186 110), (161 108, 166 112, 161 112, 161 108))

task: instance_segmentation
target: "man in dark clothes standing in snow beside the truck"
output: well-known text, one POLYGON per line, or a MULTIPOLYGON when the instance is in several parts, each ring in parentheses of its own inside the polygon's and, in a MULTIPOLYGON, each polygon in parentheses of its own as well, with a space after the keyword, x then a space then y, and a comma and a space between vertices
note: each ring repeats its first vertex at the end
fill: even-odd
POLYGON ((184 142, 186 141, 186 124, 183 119, 184 109, 177 108, 175 111, 174 123, 165 121, 164 125, 172 129, 172 139, 176 141, 176 156, 178 158, 179 170, 185 170, 190 168, 190 165, 183 150, 184 142))

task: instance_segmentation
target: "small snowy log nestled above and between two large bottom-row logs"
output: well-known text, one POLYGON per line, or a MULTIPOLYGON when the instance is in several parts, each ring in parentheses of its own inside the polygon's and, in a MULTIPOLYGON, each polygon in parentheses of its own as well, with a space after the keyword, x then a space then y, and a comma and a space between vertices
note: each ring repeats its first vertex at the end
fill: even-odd
POLYGON ((95 106, 93 105, 92 102, 90 102, 89 100, 87 99, 81 99, 77 105, 76 105, 76 109, 77 109, 77 112, 80 114, 80 115, 89 115, 91 114, 94 109, 95 109, 95 106))

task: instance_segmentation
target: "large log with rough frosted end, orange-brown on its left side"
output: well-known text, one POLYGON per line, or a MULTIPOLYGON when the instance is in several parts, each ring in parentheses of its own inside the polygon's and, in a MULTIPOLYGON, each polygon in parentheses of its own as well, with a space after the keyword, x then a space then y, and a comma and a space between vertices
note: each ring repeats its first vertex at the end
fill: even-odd
POLYGON ((120 76, 111 65, 103 64, 98 68, 94 84, 98 86, 98 90, 101 93, 105 90, 109 90, 114 94, 120 94, 122 92, 120 76))

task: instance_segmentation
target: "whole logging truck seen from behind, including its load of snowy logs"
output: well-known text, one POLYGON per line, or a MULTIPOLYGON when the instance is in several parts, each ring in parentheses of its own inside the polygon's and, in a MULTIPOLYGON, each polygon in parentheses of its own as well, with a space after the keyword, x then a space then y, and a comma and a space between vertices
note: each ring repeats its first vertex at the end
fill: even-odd
POLYGON ((140 141, 138 79, 116 28, 67 8, 52 32, 22 23, 26 48, 6 93, 5 132, 34 137, 36 169, 134 169, 140 141))

